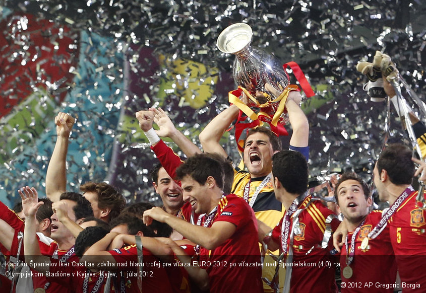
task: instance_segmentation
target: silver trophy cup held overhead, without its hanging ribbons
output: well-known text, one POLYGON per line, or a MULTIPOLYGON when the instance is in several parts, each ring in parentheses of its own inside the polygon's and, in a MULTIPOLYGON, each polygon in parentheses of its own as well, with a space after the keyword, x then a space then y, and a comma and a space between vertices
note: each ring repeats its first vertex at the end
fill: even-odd
POLYGON ((279 96, 290 82, 282 63, 274 55, 250 45, 252 36, 249 25, 236 23, 220 33, 217 47, 235 55, 233 78, 249 97, 248 106, 262 108, 272 117, 278 108, 279 96))

